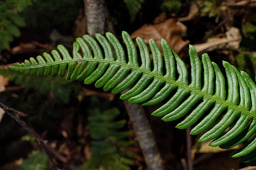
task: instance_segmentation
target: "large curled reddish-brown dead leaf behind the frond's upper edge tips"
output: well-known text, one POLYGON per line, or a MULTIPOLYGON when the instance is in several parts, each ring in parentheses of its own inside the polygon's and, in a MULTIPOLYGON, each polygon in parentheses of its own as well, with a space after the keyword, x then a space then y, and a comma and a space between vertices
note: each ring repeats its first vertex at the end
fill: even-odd
POLYGON ((161 38, 164 38, 171 49, 179 54, 189 40, 183 40, 182 36, 185 35, 186 26, 181 22, 177 22, 174 18, 169 18, 158 24, 144 24, 139 29, 135 30, 130 37, 135 40, 137 36, 141 37, 146 44, 150 38, 154 39, 156 44, 161 49, 161 38))

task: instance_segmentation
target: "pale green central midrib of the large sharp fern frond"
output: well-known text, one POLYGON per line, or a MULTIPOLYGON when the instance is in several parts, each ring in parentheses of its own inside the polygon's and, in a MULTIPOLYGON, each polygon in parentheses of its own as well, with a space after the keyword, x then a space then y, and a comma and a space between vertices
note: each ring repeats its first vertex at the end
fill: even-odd
POLYGON ((216 98, 216 97, 213 97, 213 95, 209 95, 209 94, 204 93, 204 92, 202 92, 202 91, 200 91, 200 90, 197 90, 197 89, 191 88, 191 87, 189 87, 189 86, 180 84, 180 83, 178 83, 177 81, 170 80, 170 79, 165 78, 165 77, 163 77, 163 76, 157 75, 157 74, 155 74, 155 73, 153 73, 153 72, 151 72, 151 71, 148 71, 148 70, 145 70, 145 69, 141 69, 140 67, 135 67, 135 66, 129 65, 129 64, 127 64, 127 63, 116 62, 116 61, 110 61, 110 60, 104 60, 104 59, 97 59, 97 58, 91 58, 91 59, 90 59, 90 58, 83 58, 83 59, 62 60, 62 61, 60 61, 60 62, 46 63, 46 64, 43 64, 43 65, 25 66, 25 67, 19 67, 19 68, 24 68, 24 69, 26 69, 26 68, 38 68, 38 67, 51 66, 51 65, 56 65, 56 64, 60 64, 60 63, 68 63, 68 62, 73 62, 73 61, 108 62, 108 63, 112 63, 112 64, 118 64, 118 65, 130 67, 130 68, 139 70, 139 71, 141 71, 141 72, 143 72, 143 73, 151 74, 151 75, 153 75, 154 77, 158 77, 158 78, 160 78, 160 79, 163 79, 163 80, 165 80, 165 81, 167 81, 167 82, 171 82, 171 83, 176 84, 176 85, 178 85, 178 86, 181 86, 181 87, 183 87, 183 88, 189 89, 190 91, 196 92, 196 93, 198 93, 198 94, 202 94, 203 96, 207 96, 207 97, 209 97, 209 98, 211 98, 211 99, 213 99, 213 100, 216 100, 216 101, 218 101, 218 102, 220 102, 220 103, 226 104, 226 105, 228 105, 229 107, 232 107, 232 108, 234 108, 234 109, 236 109, 236 110, 239 110, 239 111, 244 112, 244 113, 246 113, 246 114, 248 114, 248 115, 251 115, 251 116, 253 116, 253 117, 256 117, 255 114, 253 114, 253 113, 251 113, 251 112, 249 112, 249 111, 247 111, 247 110, 244 110, 244 109, 242 109, 242 108, 239 108, 238 106, 232 105, 232 104, 230 104, 230 103, 228 103, 228 102, 226 102, 226 101, 223 101, 223 100, 221 100, 221 99, 218 99, 218 98, 216 98))

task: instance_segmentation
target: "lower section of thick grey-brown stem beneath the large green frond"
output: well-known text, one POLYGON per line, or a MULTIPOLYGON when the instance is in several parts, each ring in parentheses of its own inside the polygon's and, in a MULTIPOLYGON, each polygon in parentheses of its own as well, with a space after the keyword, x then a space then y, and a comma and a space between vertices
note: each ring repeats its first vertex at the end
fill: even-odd
POLYGON ((127 100, 123 100, 123 103, 147 167, 151 170, 164 169, 161 155, 143 107, 138 104, 131 104, 127 100))

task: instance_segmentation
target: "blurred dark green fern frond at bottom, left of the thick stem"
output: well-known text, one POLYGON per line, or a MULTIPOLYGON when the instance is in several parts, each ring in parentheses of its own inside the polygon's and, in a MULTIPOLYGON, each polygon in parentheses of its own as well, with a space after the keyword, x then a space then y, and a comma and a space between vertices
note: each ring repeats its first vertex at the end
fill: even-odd
POLYGON ((132 130, 120 131, 126 124, 126 120, 114 120, 120 111, 114 107, 104 111, 98 108, 89 110, 88 124, 91 141, 91 156, 79 169, 130 169, 134 165, 131 157, 133 153, 121 150, 134 144, 134 140, 127 140, 132 130))

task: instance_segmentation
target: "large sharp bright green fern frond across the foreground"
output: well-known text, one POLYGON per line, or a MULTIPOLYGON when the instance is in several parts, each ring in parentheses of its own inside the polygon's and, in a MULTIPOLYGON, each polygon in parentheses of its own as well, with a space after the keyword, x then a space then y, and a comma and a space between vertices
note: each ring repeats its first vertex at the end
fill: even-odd
MULTIPOLYGON (((121 99, 128 99, 131 103, 141 105, 152 105, 167 100, 152 115, 163 116, 164 121, 172 121, 189 112, 189 115, 177 124, 176 127, 180 129, 196 123, 208 110, 208 114, 190 133, 198 134, 216 122, 199 139, 204 142, 215 138, 210 143, 211 146, 230 148, 245 141, 256 131, 256 85, 247 73, 239 72, 234 66, 223 61, 227 79, 226 90, 223 74, 206 53, 202 55, 203 77, 201 77, 200 59, 195 48, 190 45, 191 82, 189 83, 184 62, 170 49, 164 39, 161 40, 163 59, 155 41, 149 40, 153 56, 153 69, 151 69, 149 50, 142 38, 136 38, 141 60, 139 64, 136 47, 127 32, 122 32, 122 38, 127 48, 128 62, 122 45, 112 33, 106 33, 108 40, 98 33, 95 37, 103 48, 104 55, 96 40, 89 35, 83 35, 83 38, 76 38, 73 43, 72 57, 63 45, 58 45, 62 57, 57 50, 52 50, 53 57, 44 52, 44 58, 39 55, 36 60, 30 58, 29 61, 14 63, 9 67, 38 76, 58 74, 61 77, 66 76, 67 80, 83 80, 85 84, 97 80, 96 87, 103 86, 105 91, 111 89, 112 93, 119 93, 134 84, 130 90, 120 96, 121 99), (114 48, 116 59, 109 42, 114 48), (82 55, 78 52, 79 49, 82 55), (163 73, 163 60, 165 73, 163 73), (169 99, 166 99, 167 97, 169 99), (217 122, 221 113, 224 115, 217 122), (234 125, 224 132, 232 123, 234 125)), ((235 150, 231 156, 243 156, 240 161, 248 162, 248 165, 256 165, 255 142, 256 136, 235 150)))

